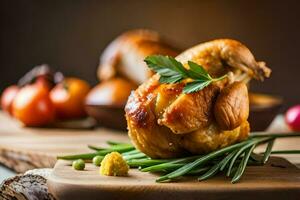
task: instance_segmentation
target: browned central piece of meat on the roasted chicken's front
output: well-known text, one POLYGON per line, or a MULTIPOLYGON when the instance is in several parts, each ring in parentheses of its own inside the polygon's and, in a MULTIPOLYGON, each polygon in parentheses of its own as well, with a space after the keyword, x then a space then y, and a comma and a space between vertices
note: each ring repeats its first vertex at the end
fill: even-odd
MULTIPOLYGON (((158 124, 168 127, 175 134, 185 134, 209 126, 213 120, 212 110, 219 90, 219 87, 210 85, 196 93, 180 94, 165 107, 158 124)), ((161 98, 157 99, 157 106, 161 104, 161 98)))

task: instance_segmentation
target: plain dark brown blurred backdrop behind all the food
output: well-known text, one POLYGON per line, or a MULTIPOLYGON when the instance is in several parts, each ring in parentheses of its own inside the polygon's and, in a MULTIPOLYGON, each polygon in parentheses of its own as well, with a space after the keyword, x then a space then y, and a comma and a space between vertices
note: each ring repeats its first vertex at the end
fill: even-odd
POLYGON ((245 43, 272 68, 252 89, 300 103, 300 1, 110 0, 0 2, 0 91, 48 63, 95 84, 101 51, 123 31, 150 28, 184 49, 214 38, 245 43))

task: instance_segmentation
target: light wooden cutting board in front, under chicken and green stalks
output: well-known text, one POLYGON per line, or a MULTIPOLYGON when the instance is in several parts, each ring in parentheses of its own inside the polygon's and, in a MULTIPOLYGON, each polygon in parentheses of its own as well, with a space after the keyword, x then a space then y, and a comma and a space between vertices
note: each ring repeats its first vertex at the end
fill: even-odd
POLYGON ((48 178, 48 188, 57 199, 300 199, 300 170, 282 158, 272 158, 265 166, 246 169, 237 184, 225 176, 198 182, 189 177, 176 183, 155 183, 158 175, 135 169, 128 177, 99 174, 87 164, 75 171, 70 162, 59 161, 48 178))

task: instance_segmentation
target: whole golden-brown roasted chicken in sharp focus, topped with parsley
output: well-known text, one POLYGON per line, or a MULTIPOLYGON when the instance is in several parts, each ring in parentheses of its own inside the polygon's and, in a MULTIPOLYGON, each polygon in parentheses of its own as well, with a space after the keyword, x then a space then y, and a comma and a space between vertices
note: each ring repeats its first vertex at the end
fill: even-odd
POLYGON ((227 75, 193 93, 189 82, 163 84, 153 75, 132 92, 125 107, 129 136, 151 158, 204 154, 245 140, 249 100, 247 82, 264 80, 271 70, 257 62, 238 41, 219 39, 199 44, 176 57, 201 65, 212 78, 227 75))

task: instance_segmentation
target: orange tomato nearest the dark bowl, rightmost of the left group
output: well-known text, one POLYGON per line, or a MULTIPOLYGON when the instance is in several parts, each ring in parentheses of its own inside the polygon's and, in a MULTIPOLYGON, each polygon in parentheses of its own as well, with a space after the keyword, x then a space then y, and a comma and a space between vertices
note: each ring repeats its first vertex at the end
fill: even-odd
POLYGON ((50 92, 59 119, 80 118, 86 115, 85 97, 90 90, 87 82, 78 78, 66 78, 50 92))

